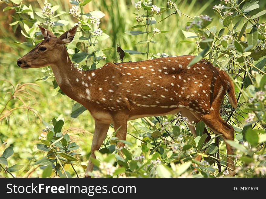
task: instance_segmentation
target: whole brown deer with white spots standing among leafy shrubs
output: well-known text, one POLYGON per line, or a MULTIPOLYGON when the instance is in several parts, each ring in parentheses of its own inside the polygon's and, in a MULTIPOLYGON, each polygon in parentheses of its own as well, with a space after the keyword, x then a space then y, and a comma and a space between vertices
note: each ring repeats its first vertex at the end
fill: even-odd
MULTIPOLYGON (((39 26, 44 40, 28 54, 17 60, 21 68, 40 68, 50 65, 62 91, 86 107, 95 120, 91 158, 99 150, 111 123, 116 137, 125 140, 127 121, 146 116, 181 112, 192 121, 203 121, 215 134, 222 134, 227 147, 228 167, 234 174, 232 147, 234 129, 220 116, 225 92, 236 108, 234 85, 229 76, 206 60, 187 67, 192 55, 157 58, 147 61, 111 63, 94 70, 80 71, 73 66, 65 44, 70 43, 77 26, 56 37, 39 26)), ((196 136, 195 128, 189 129, 196 136)), ((204 133, 208 133, 206 128, 204 133)), ((208 136, 207 139, 210 137, 208 136)), ((122 142, 118 146, 124 146, 122 142)), ((92 172, 89 160, 85 177, 92 172)))

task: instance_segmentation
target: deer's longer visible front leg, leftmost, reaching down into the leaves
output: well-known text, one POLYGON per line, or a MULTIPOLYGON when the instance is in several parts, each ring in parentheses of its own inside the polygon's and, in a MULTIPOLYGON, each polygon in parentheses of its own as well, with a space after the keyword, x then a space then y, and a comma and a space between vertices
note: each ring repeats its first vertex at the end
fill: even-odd
MULTIPOLYGON (((94 151, 98 151, 102 145, 102 142, 107 134, 110 124, 102 123, 100 121, 95 120, 95 128, 92 138, 92 146, 91 146, 91 154, 90 158, 96 158, 94 151)), ((89 164, 85 171, 84 177, 90 177, 88 172, 92 172, 94 164, 89 159, 89 164)))

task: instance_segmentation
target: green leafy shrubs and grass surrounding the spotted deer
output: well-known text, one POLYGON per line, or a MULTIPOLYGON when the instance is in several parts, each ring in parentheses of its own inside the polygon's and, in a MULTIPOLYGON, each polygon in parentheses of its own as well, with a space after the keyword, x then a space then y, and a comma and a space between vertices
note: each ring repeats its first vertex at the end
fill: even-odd
MULTIPOLYGON (((0 139, 7 141, 7 144, 4 142, 0 145, 0 175, 83 176, 92 136, 87 131, 72 127, 93 131, 92 118, 87 111, 84 112, 86 108, 60 95, 63 92, 50 67, 42 71, 23 71, 23 75, 17 75, 22 72, 14 68, 15 58, 19 57, 14 55, 25 54, 42 40, 37 25, 43 25, 59 36, 76 24, 79 26, 78 32, 73 42, 67 45, 67 50, 80 70, 99 68, 106 61, 117 61, 114 49, 119 44, 123 49, 130 49, 125 50, 126 61, 193 54, 196 57, 188 67, 205 58, 230 74, 238 107, 232 108, 225 97, 220 111, 222 118, 233 125, 236 133, 235 140, 228 141, 235 148, 235 155, 229 158, 235 162, 237 177, 265 177, 266 11, 262 9, 265 7, 262 1, 226 1, 226 4, 222 3, 224 6, 216 5, 211 9, 212 1, 204 5, 196 0, 190 3, 168 1, 167 4, 142 0, 136 2, 137 5, 127 1, 112 1, 112 5, 109 5, 108 1, 70 0, 71 7, 79 7, 69 10, 60 1, 51 0, 51 5, 47 3, 47 12, 40 9, 44 5, 34 2, 3 2, 4 13, 14 10, 13 21, 9 25, 13 32, 19 30, 23 38, 18 40, 5 30, 5 38, 1 37, 1 41, 16 52, 1 51, 1 67, 10 65, 10 70, 8 67, 1 68, 3 77, 11 82, 0 81, 0 139), (89 12, 89 7, 86 7, 88 4, 94 11, 89 12), (99 27, 104 27, 103 32, 99 27), (41 88, 36 90, 35 85, 30 84, 15 85, 15 82, 25 81, 37 81, 41 88), (37 107, 38 111, 32 107, 37 107), (25 114, 25 110, 28 114, 25 114), (65 121, 63 115, 67 118, 65 121), (43 124, 34 121, 35 117, 40 119, 41 116, 43 124), (49 123, 45 122, 51 118, 49 123), (43 126, 45 128, 41 132, 43 126), (9 135, 9 132, 12 134, 9 135)), ((224 141, 219 147, 216 146, 215 140, 220 135, 211 134, 211 140, 206 143, 203 122, 190 124, 180 114, 149 117, 148 120, 129 121, 127 141, 118 140, 110 128, 101 149, 96 152, 97 158, 91 160, 95 168, 90 175, 227 176, 224 141), (188 125, 195 128, 195 138, 188 125), (125 143, 125 147, 119 148, 118 142, 125 143), (216 166, 218 153, 222 172, 216 166), (199 155, 203 157, 201 162, 195 160, 199 155)))

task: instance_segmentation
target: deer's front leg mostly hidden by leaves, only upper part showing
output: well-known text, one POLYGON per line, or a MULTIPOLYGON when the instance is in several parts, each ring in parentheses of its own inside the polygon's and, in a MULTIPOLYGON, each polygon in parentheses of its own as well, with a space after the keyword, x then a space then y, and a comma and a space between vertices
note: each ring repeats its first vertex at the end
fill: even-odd
MULTIPOLYGON (((127 123, 128 123, 128 116, 125 114, 117 114, 113 118, 114 128, 115 128, 115 137, 119 140, 126 140, 127 137, 127 123)), ((125 144, 122 142, 118 142, 118 147, 124 147, 125 144)))

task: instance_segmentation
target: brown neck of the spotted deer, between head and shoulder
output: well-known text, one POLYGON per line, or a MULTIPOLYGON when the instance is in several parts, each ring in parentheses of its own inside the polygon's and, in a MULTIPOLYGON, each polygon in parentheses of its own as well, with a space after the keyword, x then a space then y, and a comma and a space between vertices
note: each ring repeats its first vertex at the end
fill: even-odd
POLYGON ((83 105, 85 101, 90 101, 91 71, 80 71, 75 68, 65 47, 60 59, 51 65, 51 68, 59 87, 68 97, 83 105))

